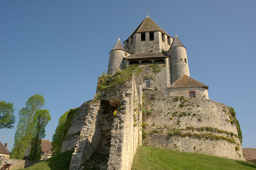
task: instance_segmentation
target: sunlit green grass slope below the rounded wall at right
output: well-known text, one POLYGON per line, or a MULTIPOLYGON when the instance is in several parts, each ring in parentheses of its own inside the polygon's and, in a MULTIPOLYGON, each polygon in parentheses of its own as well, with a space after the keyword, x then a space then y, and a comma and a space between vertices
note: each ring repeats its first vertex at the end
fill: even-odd
POLYGON ((256 164, 206 154, 138 147, 132 170, 250 170, 256 164))

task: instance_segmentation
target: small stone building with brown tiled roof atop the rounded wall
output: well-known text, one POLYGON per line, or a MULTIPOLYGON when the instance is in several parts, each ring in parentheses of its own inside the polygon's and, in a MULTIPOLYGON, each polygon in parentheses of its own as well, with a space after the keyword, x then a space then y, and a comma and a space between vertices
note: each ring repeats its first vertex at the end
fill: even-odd
POLYGON ((184 75, 167 88, 170 96, 209 99, 208 86, 184 75))

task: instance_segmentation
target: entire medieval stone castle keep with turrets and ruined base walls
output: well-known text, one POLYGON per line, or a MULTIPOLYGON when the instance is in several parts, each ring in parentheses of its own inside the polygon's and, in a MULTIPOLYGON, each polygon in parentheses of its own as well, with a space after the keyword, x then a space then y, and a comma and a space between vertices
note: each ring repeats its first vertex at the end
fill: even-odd
POLYGON ((107 161, 96 169, 128 170, 138 145, 244 160, 236 117, 190 77, 178 36, 148 16, 124 46, 118 39, 107 74, 94 99, 76 109, 62 143, 61 152, 75 149, 70 170, 85 169, 98 154, 107 161))

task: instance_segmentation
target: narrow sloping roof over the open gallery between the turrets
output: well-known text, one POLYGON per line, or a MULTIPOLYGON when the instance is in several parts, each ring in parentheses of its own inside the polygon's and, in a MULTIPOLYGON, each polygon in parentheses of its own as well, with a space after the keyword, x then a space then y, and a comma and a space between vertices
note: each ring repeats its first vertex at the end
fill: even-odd
POLYGON ((124 57, 126 60, 134 60, 134 59, 152 59, 152 58, 167 58, 168 55, 164 55, 161 52, 158 53, 135 53, 124 57))

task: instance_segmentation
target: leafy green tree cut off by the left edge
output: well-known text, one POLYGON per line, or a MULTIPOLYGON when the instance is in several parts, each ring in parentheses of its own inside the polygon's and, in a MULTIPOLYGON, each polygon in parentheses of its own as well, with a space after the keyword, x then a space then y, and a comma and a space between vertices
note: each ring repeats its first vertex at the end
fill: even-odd
POLYGON ((0 129, 12 129, 15 123, 14 104, 0 101, 0 129))

